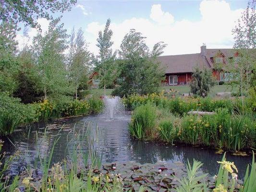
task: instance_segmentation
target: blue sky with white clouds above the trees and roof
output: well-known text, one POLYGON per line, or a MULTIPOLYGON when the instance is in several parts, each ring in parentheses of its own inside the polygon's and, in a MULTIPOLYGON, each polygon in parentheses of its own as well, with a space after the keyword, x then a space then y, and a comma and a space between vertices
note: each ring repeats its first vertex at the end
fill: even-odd
MULTIPOLYGON (((203 43, 207 48, 232 48, 232 28, 246 8, 245 0, 78 0, 61 22, 68 33, 73 27, 84 30, 88 50, 98 55, 98 31, 104 30, 108 18, 113 31, 113 50, 119 49, 130 29, 146 38, 147 46, 163 41, 167 44, 162 55, 199 53, 203 43)), ((42 31, 49 21, 39 18, 42 31)), ((37 30, 29 28, 25 38, 22 31, 17 40, 31 44, 37 30)))

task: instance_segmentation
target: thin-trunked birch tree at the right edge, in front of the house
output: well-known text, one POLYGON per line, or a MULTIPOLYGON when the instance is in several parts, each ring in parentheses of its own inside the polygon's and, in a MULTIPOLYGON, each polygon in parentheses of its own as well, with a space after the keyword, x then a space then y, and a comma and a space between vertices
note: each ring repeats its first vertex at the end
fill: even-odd
POLYGON ((227 66, 234 75, 234 83, 239 86, 242 104, 244 108, 244 96, 253 87, 256 91, 256 0, 248 2, 246 10, 236 22, 232 30, 234 35, 234 48, 238 52, 238 59, 233 59, 227 66))

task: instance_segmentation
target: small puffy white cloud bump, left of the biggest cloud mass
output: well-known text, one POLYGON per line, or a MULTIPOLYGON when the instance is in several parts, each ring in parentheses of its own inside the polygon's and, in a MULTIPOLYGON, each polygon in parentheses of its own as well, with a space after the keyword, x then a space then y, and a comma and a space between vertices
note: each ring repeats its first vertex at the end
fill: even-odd
POLYGON ((172 24, 174 17, 170 12, 163 12, 161 5, 152 5, 150 18, 159 24, 172 24))

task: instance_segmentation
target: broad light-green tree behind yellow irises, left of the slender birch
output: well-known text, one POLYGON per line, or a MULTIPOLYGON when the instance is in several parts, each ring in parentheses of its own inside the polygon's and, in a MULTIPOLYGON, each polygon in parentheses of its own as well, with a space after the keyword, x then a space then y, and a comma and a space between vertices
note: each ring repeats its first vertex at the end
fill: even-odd
POLYGON ((52 21, 44 35, 38 34, 33 39, 33 50, 42 83, 39 88, 44 92, 45 99, 49 95, 73 95, 74 92, 68 82, 64 63, 68 35, 59 22, 59 19, 52 21))

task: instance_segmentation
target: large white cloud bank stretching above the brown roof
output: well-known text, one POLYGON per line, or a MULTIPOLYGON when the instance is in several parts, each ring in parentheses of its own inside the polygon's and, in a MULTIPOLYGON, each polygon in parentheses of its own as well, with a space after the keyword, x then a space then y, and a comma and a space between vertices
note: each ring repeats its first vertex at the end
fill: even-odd
MULTIPOLYGON (((151 7, 150 19, 131 18, 119 24, 111 23, 113 49, 119 48, 123 36, 131 28, 147 37, 146 43, 150 48, 158 41, 167 43, 163 55, 198 53, 203 43, 207 44, 207 48, 232 48, 231 31, 234 21, 243 10, 231 10, 229 3, 224 0, 203 0, 198 11, 202 15, 198 21, 190 21, 189 18, 174 21, 171 13, 163 12, 161 5, 157 4, 151 7)), ((105 24, 93 22, 86 27, 89 48, 95 54, 98 54, 98 31, 103 30, 104 26, 105 24)))

